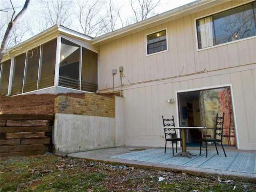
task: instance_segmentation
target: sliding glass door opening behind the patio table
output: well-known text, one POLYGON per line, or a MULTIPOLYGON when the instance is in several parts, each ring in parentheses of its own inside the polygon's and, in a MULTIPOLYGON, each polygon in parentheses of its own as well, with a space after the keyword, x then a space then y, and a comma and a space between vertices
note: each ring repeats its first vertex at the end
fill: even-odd
MULTIPOLYGON (((214 137, 213 128, 216 113, 225 113, 223 144, 236 146, 234 117, 230 87, 178 92, 178 115, 180 126, 206 126, 207 137, 214 137)), ((202 130, 186 132, 186 143, 199 147, 199 139, 205 137, 202 130)))

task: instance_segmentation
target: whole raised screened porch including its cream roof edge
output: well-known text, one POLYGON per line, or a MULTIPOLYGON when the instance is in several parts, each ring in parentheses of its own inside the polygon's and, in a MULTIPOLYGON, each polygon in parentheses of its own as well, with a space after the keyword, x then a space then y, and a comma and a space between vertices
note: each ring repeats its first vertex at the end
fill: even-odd
POLYGON ((91 40, 56 25, 6 51, 1 62, 1 96, 95 93, 98 50, 91 40))

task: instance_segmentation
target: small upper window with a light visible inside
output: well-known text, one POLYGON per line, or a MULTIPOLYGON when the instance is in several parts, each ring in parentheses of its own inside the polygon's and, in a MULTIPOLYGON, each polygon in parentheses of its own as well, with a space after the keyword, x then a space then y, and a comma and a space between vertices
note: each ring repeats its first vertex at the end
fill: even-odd
POLYGON ((166 50, 166 30, 147 35, 147 55, 166 50))

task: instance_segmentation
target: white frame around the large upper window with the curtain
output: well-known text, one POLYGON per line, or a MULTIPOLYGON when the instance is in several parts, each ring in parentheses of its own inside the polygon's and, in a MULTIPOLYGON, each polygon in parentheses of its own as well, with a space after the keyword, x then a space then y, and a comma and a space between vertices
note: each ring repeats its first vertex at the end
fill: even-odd
MULTIPOLYGON (((217 45, 213 45, 213 46, 209 46, 209 47, 205 47, 205 48, 199 48, 199 45, 198 45, 199 38, 198 38, 198 32, 197 32, 197 20, 208 18, 210 16, 213 17, 216 14, 221 14, 222 12, 226 12, 228 10, 232 10, 232 9, 235 9, 235 8, 239 8, 241 6, 245 6, 246 4, 253 4, 253 3, 254 3, 254 1, 249 2, 249 3, 248 2, 240 3, 240 4, 237 4, 237 5, 234 5, 234 6, 231 6, 231 7, 228 7, 228 8, 210 13, 210 14, 206 14, 204 16, 194 18, 194 29, 195 29, 195 36, 196 36, 196 51, 208 50, 208 49, 216 48, 216 47, 219 47, 219 46, 225 46, 227 44, 233 44, 233 43, 237 43, 237 42, 240 42, 240 41, 245 41, 245 40, 256 38, 256 35, 254 35, 254 36, 251 36, 251 37, 242 38, 242 39, 238 39, 238 40, 234 40, 234 41, 230 41, 230 42, 226 42, 226 43, 222 43, 222 44, 217 44, 217 45)), ((214 27, 214 24, 213 24, 213 27, 214 27)))

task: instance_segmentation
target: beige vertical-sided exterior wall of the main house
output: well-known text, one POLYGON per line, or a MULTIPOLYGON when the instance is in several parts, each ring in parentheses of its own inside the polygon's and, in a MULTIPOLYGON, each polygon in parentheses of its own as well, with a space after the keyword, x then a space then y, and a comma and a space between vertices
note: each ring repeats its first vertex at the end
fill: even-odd
POLYGON ((255 36, 198 51, 196 18, 240 5, 224 2, 100 45, 99 90, 122 90, 125 98, 126 145, 164 146, 162 115, 178 124, 176 92, 231 85, 236 141, 239 149, 256 149, 255 36), (168 52, 146 56, 146 34, 167 28, 168 52))

